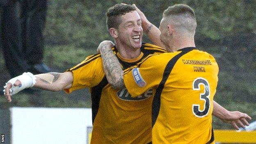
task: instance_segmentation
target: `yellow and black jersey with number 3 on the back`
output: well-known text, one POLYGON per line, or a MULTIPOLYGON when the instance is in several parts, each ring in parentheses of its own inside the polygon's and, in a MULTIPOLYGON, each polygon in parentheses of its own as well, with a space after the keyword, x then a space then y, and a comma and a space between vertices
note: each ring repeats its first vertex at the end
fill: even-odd
POLYGON ((124 71, 132 97, 156 89, 153 144, 214 144, 211 123, 218 71, 212 55, 192 47, 150 55, 124 71))

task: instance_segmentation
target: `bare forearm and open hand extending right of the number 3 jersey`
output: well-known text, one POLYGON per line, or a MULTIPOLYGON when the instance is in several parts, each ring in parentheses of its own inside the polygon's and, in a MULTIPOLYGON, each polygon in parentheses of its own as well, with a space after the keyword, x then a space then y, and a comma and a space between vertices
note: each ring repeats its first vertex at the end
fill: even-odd
POLYGON ((213 115, 224 123, 230 123, 236 130, 239 130, 239 126, 242 128, 245 128, 245 125, 249 126, 247 120, 251 120, 247 114, 238 111, 230 112, 215 101, 213 101, 213 115))

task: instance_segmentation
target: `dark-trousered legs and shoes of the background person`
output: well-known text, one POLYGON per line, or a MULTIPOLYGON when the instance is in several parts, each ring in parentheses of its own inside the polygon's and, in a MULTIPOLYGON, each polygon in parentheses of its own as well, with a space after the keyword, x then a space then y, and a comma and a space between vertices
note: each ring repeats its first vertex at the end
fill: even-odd
POLYGON ((46 0, 21 0, 20 5, 18 0, 0 0, 0 46, 11 77, 50 72, 42 62, 46 7, 46 0))

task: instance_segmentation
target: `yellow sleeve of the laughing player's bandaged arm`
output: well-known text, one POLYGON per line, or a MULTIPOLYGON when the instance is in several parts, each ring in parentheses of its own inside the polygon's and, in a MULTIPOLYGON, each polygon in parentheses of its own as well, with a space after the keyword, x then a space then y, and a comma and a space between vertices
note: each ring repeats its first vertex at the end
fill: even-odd
POLYGON ((101 82, 105 75, 100 54, 87 57, 67 71, 73 73, 73 83, 69 89, 64 89, 66 93, 85 87, 94 87, 101 82))

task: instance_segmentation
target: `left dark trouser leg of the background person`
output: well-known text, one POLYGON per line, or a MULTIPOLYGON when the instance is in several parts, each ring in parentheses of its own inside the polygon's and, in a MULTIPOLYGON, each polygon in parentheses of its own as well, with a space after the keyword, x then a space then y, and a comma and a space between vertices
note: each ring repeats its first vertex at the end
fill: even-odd
POLYGON ((0 1, 0 45, 11 77, 21 75, 30 68, 21 52, 17 6, 17 2, 13 0, 0 1))

